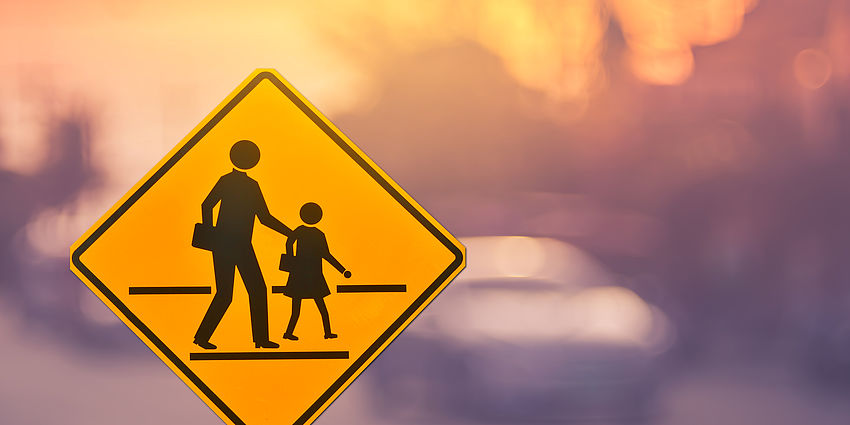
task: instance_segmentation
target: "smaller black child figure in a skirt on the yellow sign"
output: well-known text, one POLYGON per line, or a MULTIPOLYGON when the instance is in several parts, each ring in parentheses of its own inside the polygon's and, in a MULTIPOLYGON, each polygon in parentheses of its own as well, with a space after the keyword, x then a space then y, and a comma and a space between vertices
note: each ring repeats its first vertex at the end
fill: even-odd
POLYGON ((301 300, 312 298, 316 302, 319 314, 322 315, 322 325, 325 328, 325 339, 336 338, 331 332, 331 321, 328 308, 324 298, 331 294, 325 276, 322 273, 322 260, 327 260, 346 278, 351 277, 351 272, 331 255, 325 234, 312 225, 322 219, 322 208, 314 202, 308 202, 301 207, 301 220, 309 226, 298 226, 292 232, 292 236, 286 240, 286 252, 295 252, 295 261, 289 272, 286 287, 283 294, 292 298, 292 315, 289 317, 289 325, 286 327, 285 339, 297 341, 295 324, 301 314, 301 300), (297 245, 296 245, 297 243, 297 245), (293 246, 297 251, 293 251, 293 246))

